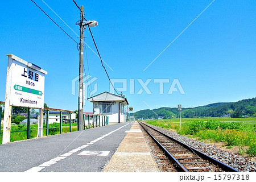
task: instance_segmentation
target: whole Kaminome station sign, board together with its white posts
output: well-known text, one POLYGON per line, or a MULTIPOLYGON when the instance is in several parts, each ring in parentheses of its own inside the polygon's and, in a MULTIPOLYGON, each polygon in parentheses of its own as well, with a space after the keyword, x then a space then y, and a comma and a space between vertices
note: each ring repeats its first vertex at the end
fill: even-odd
MULTIPOLYGON (((5 115, 2 143, 10 142, 11 107, 44 108, 44 76, 47 72, 15 55, 8 56, 5 115)), ((43 134, 43 112, 39 110, 38 132, 43 134)), ((39 134, 38 134, 39 135, 39 134)), ((42 135, 40 135, 42 136, 42 135)))

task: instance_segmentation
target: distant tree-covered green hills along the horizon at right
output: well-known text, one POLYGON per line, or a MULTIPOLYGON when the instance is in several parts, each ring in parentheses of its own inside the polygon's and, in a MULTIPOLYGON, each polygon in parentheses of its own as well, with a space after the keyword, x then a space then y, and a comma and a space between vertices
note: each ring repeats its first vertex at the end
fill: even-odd
MULTIPOLYGON (((133 113, 135 118, 176 118, 179 117, 177 107, 160 107, 159 109, 145 109, 133 113)), ((256 97, 237 102, 218 102, 205 106, 188 107, 181 110, 181 117, 256 117, 256 97)))

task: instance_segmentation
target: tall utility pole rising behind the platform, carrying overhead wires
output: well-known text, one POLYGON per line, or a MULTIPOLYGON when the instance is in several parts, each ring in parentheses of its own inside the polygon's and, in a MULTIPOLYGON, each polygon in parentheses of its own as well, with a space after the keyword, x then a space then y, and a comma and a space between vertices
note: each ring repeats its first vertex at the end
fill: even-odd
POLYGON ((81 6, 80 11, 80 58, 79 58, 79 101, 78 101, 78 123, 77 130, 82 131, 84 128, 83 114, 84 114, 84 101, 83 101, 83 90, 84 90, 84 78, 83 78, 83 69, 84 69, 84 6, 81 6))

